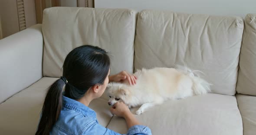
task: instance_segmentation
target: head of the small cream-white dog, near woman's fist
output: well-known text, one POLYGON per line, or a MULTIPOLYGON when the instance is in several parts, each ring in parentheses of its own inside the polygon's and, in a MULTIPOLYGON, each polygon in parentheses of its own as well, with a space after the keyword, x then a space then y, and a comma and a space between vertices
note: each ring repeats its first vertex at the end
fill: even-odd
POLYGON ((108 105, 113 106, 117 102, 123 102, 127 104, 130 92, 126 84, 121 83, 110 83, 106 88, 106 92, 110 99, 108 100, 108 105))

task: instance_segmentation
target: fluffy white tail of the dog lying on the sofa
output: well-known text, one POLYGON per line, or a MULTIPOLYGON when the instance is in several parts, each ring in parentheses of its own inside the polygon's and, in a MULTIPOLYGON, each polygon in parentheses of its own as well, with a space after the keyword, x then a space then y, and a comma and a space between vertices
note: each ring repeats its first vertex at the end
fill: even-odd
POLYGON ((209 84, 206 80, 203 80, 202 78, 200 78, 198 74, 195 74, 195 72, 201 72, 201 71, 192 71, 187 66, 181 66, 181 65, 176 65, 175 67, 178 71, 181 71, 182 73, 188 75, 192 79, 193 81, 192 90, 194 91, 195 95, 200 95, 200 94, 205 94, 210 92, 210 86, 212 84, 209 84))

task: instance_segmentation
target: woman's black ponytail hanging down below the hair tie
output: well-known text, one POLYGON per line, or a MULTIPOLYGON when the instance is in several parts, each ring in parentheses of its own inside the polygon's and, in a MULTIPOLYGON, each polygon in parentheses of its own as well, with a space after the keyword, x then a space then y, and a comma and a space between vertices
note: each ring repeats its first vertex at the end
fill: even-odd
POLYGON ((62 88, 66 84, 65 80, 65 77, 61 77, 49 88, 43 103, 42 117, 36 135, 49 135, 58 120, 62 109, 62 88))

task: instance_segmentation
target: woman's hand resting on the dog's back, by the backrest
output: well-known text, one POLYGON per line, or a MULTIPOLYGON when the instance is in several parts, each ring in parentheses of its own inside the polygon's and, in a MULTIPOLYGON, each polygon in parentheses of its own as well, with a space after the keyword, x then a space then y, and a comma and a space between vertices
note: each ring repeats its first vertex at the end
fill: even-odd
POLYGON ((109 81, 112 82, 124 82, 128 81, 130 85, 136 84, 137 77, 133 74, 129 74, 126 71, 121 71, 118 74, 109 76, 109 81))

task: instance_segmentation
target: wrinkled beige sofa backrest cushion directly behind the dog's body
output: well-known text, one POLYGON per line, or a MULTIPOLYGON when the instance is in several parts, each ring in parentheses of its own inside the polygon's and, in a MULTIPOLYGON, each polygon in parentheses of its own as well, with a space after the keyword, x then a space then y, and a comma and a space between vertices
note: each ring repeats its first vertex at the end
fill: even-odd
POLYGON ((135 70, 187 65, 204 73, 212 93, 234 95, 243 18, 143 10, 138 13, 135 70))

